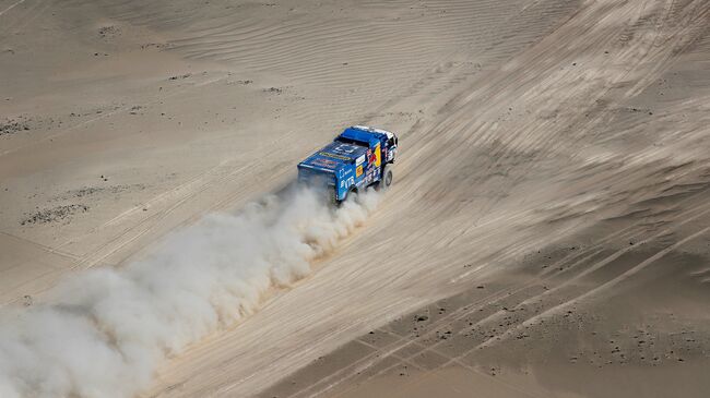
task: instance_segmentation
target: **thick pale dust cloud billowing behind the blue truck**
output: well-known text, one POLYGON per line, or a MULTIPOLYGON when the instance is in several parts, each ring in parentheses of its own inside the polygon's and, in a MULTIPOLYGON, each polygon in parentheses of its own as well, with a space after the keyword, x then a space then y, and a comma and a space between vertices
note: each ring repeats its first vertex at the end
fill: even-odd
POLYGON ((137 394, 167 355, 308 275, 377 202, 366 192, 333 209, 309 190, 268 196, 169 236, 145 260, 72 276, 45 304, 3 310, 0 397, 137 394))

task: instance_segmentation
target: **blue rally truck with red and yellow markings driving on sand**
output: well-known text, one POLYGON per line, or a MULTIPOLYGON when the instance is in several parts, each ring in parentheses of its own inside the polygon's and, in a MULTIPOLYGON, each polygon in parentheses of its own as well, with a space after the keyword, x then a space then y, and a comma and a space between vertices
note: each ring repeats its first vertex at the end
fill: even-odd
POLYGON ((397 146, 397 135, 389 131, 365 125, 347 128, 298 164, 298 182, 326 189, 336 204, 368 186, 388 188, 397 146))

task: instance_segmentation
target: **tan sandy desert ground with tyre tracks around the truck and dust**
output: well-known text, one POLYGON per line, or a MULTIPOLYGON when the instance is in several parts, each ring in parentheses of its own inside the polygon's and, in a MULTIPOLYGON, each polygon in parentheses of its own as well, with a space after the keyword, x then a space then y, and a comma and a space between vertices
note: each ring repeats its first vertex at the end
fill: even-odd
POLYGON ((402 143, 375 218, 146 396, 705 396, 709 22, 701 0, 0 2, 2 302, 372 123, 402 143))

